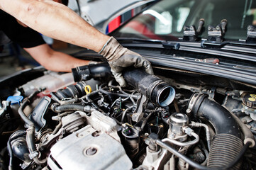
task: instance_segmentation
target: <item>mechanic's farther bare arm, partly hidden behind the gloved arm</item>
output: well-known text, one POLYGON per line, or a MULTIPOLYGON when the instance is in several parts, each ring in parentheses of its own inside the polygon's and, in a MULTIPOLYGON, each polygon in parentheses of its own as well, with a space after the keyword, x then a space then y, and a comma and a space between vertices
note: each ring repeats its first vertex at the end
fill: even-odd
POLYGON ((24 48, 45 69, 55 72, 71 72, 74 67, 89 64, 87 60, 79 60, 63 52, 52 50, 47 44, 24 48))

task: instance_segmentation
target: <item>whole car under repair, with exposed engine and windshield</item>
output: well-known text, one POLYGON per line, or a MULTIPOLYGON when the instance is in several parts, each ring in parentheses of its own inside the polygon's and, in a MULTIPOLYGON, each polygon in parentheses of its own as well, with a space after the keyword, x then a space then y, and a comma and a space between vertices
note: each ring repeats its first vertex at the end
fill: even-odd
POLYGON ((155 75, 121 88, 82 50, 101 63, 1 80, 1 169, 255 169, 255 22, 252 0, 157 1, 109 33, 155 75))

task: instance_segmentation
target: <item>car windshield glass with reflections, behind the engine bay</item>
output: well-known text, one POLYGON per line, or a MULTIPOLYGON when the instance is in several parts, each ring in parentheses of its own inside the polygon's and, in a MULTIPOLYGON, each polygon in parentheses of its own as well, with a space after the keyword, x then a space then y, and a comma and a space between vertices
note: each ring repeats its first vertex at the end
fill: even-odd
POLYGON ((228 21, 226 39, 245 40, 247 26, 256 25, 256 2, 253 0, 164 0, 148 8, 140 15, 113 32, 116 38, 142 38, 178 40, 183 37, 184 26, 198 27, 204 18, 207 27, 216 27, 221 20, 228 21))

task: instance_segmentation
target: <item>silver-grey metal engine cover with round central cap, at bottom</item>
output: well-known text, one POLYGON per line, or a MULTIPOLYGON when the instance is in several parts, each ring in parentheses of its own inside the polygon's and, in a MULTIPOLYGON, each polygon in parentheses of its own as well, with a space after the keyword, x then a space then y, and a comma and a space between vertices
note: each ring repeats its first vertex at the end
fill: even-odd
POLYGON ((91 125, 73 132, 50 149, 48 166, 60 169, 132 169, 120 142, 91 125))

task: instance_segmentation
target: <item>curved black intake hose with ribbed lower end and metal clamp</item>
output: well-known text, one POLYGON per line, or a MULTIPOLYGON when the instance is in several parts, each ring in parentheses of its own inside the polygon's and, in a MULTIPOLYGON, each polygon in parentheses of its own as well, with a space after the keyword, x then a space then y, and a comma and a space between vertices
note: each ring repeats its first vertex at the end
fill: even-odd
MULTIPOLYGON (((215 101, 203 94, 194 94, 188 106, 196 118, 208 120, 216 131, 211 142, 208 167, 225 167, 230 164, 243 148, 239 125, 233 115, 215 101)), ((240 162, 233 169, 240 169, 240 162)))

